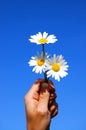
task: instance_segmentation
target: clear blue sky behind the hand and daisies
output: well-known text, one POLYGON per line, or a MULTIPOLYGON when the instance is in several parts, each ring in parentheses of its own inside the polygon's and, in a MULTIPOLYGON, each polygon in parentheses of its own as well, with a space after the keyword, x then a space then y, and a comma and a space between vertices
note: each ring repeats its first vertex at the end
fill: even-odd
POLYGON ((27 64, 41 47, 28 41, 37 32, 55 34, 46 45, 51 55, 62 54, 69 75, 57 82, 59 114, 51 130, 86 130, 86 1, 0 1, 0 130, 26 129, 24 95, 42 75, 27 64))

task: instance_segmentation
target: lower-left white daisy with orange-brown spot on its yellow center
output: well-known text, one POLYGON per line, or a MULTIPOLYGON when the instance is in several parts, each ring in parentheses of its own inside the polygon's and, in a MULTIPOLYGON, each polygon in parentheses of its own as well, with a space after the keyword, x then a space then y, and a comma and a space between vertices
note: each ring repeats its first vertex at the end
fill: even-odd
POLYGON ((38 53, 37 56, 31 57, 32 59, 28 62, 28 64, 30 66, 34 66, 32 71, 40 74, 42 73, 42 71, 45 72, 45 64, 48 57, 49 55, 47 53, 45 53, 45 55, 43 55, 43 53, 38 53))

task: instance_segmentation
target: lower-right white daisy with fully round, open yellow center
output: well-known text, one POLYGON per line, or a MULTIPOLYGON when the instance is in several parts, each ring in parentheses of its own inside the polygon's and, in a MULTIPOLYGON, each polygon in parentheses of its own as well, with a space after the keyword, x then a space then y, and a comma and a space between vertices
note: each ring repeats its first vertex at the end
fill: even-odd
POLYGON ((60 77, 63 78, 68 75, 66 72, 68 70, 68 65, 62 55, 56 56, 54 54, 53 57, 48 59, 46 63, 48 78, 52 76, 55 80, 60 81, 60 77))

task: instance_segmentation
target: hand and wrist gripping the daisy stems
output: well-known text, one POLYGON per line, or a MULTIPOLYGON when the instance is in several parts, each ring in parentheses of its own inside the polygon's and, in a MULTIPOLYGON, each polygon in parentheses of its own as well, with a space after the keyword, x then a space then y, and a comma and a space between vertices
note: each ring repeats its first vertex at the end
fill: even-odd
POLYGON ((27 130, 49 130, 51 118, 57 115, 55 88, 51 81, 37 80, 25 95, 27 130))

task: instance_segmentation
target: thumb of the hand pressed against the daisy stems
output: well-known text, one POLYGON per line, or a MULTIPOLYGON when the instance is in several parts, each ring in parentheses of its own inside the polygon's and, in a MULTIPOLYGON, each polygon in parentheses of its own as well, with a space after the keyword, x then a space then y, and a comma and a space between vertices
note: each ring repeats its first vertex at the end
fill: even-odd
POLYGON ((48 111, 48 103, 49 103, 49 87, 47 83, 42 83, 40 86, 40 97, 39 97, 39 110, 42 112, 48 111))

